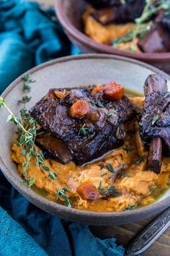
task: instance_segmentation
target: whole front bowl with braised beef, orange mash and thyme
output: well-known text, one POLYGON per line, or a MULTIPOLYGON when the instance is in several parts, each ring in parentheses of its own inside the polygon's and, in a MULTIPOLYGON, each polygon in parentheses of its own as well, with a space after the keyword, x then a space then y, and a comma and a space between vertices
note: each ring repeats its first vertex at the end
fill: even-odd
POLYGON ((170 204, 169 88, 164 72, 120 56, 35 67, 0 98, 1 171, 30 202, 70 221, 161 212, 170 204))

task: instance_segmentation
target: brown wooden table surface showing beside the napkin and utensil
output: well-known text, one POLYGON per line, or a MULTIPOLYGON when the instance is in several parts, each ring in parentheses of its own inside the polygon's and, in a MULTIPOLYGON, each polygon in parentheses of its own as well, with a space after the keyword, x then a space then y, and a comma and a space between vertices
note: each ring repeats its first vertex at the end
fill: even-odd
MULTIPOLYGON (((41 4, 53 6, 54 0, 37 0, 41 4)), ((79 1, 79 0, 77 0, 79 1)), ((154 217, 153 217, 154 218, 154 217)), ((119 244, 125 246, 140 230, 153 220, 148 218, 145 221, 130 223, 123 226, 91 226, 90 229, 99 238, 115 237, 119 244)), ((170 229, 168 229, 152 247, 146 250, 142 256, 169 256, 170 255, 170 229)))

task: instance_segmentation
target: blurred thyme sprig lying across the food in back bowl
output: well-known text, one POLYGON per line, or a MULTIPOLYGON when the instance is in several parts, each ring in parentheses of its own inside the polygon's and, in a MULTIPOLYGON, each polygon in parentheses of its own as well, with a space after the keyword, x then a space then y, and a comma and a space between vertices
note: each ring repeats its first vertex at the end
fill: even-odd
MULTIPOLYGON (((157 14, 161 9, 169 10, 170 4, 167 0, 148 0, 146 6, 143 9, 143 13, 140 17, 135 19, 135 27, 127 35, 117 38, 112 42, 112 45, 117 47, 120 43, 128 43, 133 41, 135 38, 143 38, 147 31, 153 26, 153 22, 148 20, 153 14, 157 14)), ((132 45, 133 48, 133 45, 132 45)))

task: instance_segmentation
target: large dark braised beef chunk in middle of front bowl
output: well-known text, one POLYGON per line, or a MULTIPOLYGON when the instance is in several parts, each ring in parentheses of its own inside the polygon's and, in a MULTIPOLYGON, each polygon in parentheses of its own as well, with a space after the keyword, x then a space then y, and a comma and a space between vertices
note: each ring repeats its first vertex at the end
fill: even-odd
MULTIPOLYGON (((71 156, 66 156, 68 161, 72 157, 79 164, 99 158, 120 145, 125 138, 124 124, 133 116, 133 106, 126 96, 120 101, 109 101, 102 92, 91 93, 93 89, 94 86, 50 89, 48 95, 30 109, 31 116, 45 132, 64 142, 71 152, 71 156), (79 100, 89 103, 89 111, 73 118, 71 106, 79 100)), ((42 138, 38 145, 57 159, 63 157, 54 150, 55 140, 50 145, 49 140, 42 138)))

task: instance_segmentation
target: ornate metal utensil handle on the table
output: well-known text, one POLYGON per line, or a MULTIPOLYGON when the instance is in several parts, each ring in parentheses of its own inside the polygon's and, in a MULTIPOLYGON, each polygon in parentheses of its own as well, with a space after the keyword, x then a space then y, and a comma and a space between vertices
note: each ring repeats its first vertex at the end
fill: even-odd
POLYGON ((170 208, 161 213, 146 229, 130 242, 127 255, 139 255, 151 246, 161 234, 170 226, 170 208))

